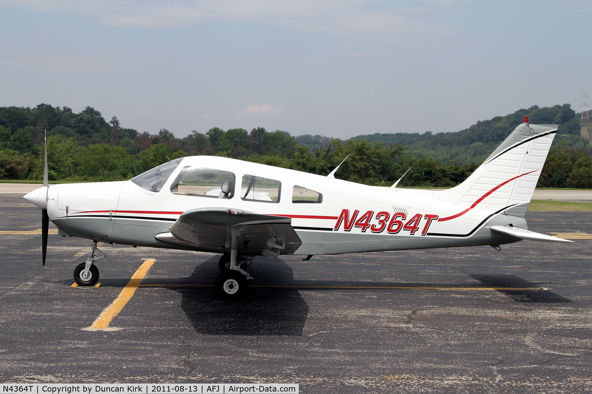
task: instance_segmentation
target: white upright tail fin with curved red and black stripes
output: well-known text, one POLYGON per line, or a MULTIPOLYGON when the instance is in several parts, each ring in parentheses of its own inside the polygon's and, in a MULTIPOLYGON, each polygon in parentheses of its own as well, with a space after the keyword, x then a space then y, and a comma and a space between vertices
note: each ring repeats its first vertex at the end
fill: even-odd
POLYGON ((557 125, 522 123, 463 183, 438 193, 459 206, 524 217, 557 125))

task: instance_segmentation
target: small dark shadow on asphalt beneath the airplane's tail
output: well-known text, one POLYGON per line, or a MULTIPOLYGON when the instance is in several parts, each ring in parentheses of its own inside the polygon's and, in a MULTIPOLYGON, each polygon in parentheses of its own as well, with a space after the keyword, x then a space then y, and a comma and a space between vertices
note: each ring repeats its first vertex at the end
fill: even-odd
MULTIPOLYGON (((470 274, 471 278, 477 279, 484 285, 488 286, 504 286, 504 287, 542 287, 540 283, 529 282, 516 275, 499 275, 499 274, 470 274)), ((496 290, 501 294, 507 295, 517 302, 573 302, 571 299, 562 297, 552 291, 532 291, 532 290, 496 290)))

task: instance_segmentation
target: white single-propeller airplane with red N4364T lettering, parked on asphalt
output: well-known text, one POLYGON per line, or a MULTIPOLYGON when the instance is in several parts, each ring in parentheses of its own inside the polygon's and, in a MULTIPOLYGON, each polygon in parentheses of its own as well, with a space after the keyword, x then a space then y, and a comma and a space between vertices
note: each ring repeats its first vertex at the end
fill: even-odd
MULTIPOLYGON (((255 256, 572 242, 527 230, 526 209, 556 125, 519 125, 463 183, 428 191, 376 187, 214 156, 175 159, 128 181, 55 184, 24 198, 59 235, 93 241, 74 279, 94 285, 97 242, 221 253, 215 291, 237 299, 255 256)), ((46 155, 47 169, 47 155, 46 155)))

